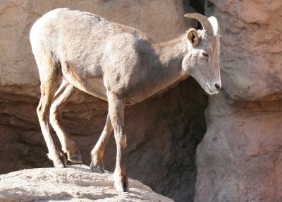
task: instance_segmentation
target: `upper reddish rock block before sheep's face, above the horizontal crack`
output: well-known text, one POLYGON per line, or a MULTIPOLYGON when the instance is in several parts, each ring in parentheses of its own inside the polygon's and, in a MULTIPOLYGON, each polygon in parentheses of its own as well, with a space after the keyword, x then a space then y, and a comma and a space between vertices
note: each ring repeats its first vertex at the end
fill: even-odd
POLYGON ((211 2, 205 13, 216 16, 221 25, 226 93, 235 100, 281 99, 282 1, 211 2))

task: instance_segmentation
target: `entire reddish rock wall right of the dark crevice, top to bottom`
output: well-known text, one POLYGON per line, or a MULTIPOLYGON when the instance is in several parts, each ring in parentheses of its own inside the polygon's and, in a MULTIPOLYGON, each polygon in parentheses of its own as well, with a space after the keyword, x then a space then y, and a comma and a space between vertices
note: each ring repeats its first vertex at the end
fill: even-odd
POLYGON ((221 25, 223 89, 209 97, 195 201, 282 201, 282 1, 206 2, 221 25))

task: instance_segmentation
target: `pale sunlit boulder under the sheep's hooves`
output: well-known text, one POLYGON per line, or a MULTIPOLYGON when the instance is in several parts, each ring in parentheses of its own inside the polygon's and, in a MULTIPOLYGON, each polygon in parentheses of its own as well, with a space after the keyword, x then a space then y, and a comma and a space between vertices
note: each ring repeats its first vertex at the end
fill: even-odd
POLYGON ((85 165, 20 170, 0 179, 0 201, 172 202, 134 179, 129 179, 128 193, 118 192, 111 173, 93 173, 85 165))

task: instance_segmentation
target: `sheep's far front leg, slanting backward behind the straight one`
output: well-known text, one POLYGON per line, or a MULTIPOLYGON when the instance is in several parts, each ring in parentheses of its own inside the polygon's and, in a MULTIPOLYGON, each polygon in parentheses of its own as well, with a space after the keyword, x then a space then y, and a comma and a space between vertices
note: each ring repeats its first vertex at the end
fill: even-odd
POLYGON ((111 126, 111 120, 109 117, 109 112, 106 117, 106 124, 104 126, 104 130, 97 141, 96 145, 91 151, 91 164, 90 168, 93 172, 104 172, 104 163, 103 163, 103 157, 104 157, 104 149, 106 146, 106 142, 109 140, 109 136, 111 135, 111 132, 113 131, 113 126, 111 126))

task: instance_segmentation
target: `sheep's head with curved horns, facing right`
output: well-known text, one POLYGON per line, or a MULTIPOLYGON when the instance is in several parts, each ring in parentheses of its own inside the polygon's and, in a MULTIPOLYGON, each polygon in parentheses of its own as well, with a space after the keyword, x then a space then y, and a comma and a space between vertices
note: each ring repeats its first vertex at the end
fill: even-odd
POLYGON ((186 34, 188 54, 183 59, 183 71, 195 78, 207 93, 219 93, 219 24, 216 18, 206 18, 199 13, 189 13, 185 17, 198 20, 203 30, 190 29, 186 34))

